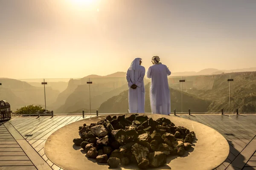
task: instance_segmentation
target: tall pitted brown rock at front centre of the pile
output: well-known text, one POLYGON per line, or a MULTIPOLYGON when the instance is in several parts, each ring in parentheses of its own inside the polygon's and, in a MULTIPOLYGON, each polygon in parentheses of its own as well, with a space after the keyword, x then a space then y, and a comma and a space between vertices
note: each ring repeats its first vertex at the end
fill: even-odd
POLYGON ((135 159, 137 160, 137 163, 140 164, 143 159, 148 159, 148 148, 140 145, 140 144, 134 144, 131 147, 131 152, 133 153, 135 159))

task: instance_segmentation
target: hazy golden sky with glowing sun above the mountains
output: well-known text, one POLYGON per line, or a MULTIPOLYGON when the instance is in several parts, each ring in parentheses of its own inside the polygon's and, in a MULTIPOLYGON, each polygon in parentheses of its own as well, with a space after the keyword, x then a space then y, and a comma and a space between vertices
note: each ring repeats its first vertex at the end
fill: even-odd
POLYGON ((0 77, 256 67, 256 0, 0 0, 0 77))

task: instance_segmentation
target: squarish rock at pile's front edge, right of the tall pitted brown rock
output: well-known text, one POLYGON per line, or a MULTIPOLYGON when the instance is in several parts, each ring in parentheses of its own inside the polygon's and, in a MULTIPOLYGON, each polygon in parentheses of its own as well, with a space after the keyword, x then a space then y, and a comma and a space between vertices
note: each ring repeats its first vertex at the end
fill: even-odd
POLYGON ((150 167, 160 167, 166 164, 166 154, 163 152, 149 153, 148 159, 150 167))

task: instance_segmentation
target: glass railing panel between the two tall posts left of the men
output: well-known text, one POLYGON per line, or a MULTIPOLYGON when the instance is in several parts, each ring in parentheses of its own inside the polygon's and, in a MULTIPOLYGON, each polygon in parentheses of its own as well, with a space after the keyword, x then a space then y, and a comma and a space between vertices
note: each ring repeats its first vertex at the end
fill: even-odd
POLYGON ((90 113, 88 78, 45 79, 47 110, 54 114, 90 113))

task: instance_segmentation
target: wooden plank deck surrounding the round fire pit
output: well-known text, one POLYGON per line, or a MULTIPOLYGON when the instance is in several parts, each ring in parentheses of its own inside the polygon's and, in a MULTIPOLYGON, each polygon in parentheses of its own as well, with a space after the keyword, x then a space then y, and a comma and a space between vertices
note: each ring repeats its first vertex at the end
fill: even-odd
MULTIPOLYGON (((208 125, 227 139, 230 154, 215 170, 256 170, 255 114, 177 116, 208 125)), ((81 119, 82 116, 17 117, 1 123, 0 170, 62 170, 47 158, 44 143, 55 130, 81 119)))

